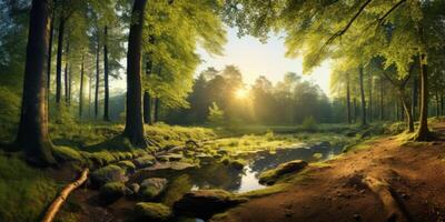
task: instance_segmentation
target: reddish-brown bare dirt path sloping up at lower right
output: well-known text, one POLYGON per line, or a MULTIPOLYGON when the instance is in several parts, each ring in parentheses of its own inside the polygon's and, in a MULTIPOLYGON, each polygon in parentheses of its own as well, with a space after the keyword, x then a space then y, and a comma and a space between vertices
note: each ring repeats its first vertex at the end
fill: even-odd
POLYGON ((372 149, 310 167, 290 189, 253 199, 212 221, 388 221, 390 213, 402 215, 389 221, 444 221, 445 123, 434 128, 442 137, 437 141, 376 140, 372 149))

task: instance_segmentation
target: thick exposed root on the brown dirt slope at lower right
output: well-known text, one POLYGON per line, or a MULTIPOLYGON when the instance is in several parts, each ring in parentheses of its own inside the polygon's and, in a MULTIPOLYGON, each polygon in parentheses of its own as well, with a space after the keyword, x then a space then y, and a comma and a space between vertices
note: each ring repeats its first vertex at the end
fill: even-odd
POLYGON ((369 175, 364 178, 363 182, 382 200, 383 206, 387 212, 388 222, 411 221, 402 203, 398 201, 398 198, 392 192, 388 183, 369 175))

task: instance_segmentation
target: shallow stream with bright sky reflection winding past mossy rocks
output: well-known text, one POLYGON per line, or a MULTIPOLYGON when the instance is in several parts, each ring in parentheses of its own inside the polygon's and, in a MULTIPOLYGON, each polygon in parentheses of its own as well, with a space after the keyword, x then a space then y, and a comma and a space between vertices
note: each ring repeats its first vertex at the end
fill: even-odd
MULTIPOLYGON (((259 184, 258 175, 269 169, 276 168, 280 163, 293 160, 304 160, 317 162, 328 160, 342 153, 343 147, 332 147, 328 142, 316 144, 298 143, 287 148, 279 148, 275 151, 258 151, 255 153, 243 154, 247 161, 244 169, 235 169, 231 165, 215 161, 201 164, 199 168, 190 168, 180 171, 140 171, 135 173, 130 181, 140 183, 147 178, 165 178, 168 186, 157 202, 171 206, 185 193, 200 189, 222 189, 234 193, 249 192, 265 188, 259 184)), ((200 219, 187 219, 179 221, 202 221, 200 219)))

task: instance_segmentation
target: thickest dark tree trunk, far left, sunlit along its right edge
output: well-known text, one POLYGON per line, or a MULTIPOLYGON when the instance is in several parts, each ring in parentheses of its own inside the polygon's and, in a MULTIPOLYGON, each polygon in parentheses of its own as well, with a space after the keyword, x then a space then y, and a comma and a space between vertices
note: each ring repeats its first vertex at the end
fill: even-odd
POLYGON ((48 133, 47 61, 51 6, 33 0, 27 46, 20 124, 17 144, 27 159, 39 165, 55 164, 52 143, 48 133))

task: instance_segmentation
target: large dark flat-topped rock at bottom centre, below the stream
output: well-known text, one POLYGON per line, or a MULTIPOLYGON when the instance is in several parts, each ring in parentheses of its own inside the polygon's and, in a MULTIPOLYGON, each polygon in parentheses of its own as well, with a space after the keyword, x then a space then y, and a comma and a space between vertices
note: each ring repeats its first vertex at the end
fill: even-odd
POLYGON ((184 194, 175 202, 174 209, 185 215, 209 219, 246 201, 224 190, 198 190, 184 194))

